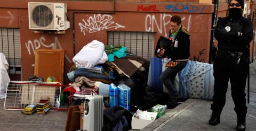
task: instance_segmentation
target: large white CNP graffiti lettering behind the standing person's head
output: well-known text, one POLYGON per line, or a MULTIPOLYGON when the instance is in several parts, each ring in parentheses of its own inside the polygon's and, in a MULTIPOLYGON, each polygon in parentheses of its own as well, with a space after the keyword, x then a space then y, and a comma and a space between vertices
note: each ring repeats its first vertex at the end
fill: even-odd
MULTIPOLYGON (((169 23, 170 23, 171 17, 172 15, 164 13, 164 14, 160 14, 159 20, 156 20, 155 15, 148 14, 146 15, 146 18, 145 18, 145 30, 147 32, 158 31, 161 34, 164 32, 165 37, 167 37, 167 33, 169 32, 169 23), (166 28, 166 25, 167 25, 167 28, 166 28)), ((189 15, 188 17, 188 26, 187 26, 188 31, 190 28, 190 24, 189 24, 190 18, 191 18, 191 15, 189 15)), ((185 19, 186 19, 185 17, 181 18, 182 21, 185 19)))

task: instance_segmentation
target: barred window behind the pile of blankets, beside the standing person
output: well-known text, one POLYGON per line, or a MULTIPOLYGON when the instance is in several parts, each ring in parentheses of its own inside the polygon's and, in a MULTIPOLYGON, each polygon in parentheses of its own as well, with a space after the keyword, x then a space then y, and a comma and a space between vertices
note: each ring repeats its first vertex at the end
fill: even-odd
POLYGON ((154 57, 154 32, 108 31, 108 45, 120 45, 147 60, 154 57))

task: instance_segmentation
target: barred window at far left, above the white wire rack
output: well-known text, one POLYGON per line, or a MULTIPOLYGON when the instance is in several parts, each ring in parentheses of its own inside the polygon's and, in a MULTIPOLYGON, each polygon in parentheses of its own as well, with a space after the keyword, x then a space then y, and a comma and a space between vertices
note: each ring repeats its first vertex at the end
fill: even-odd
POLYGON ((9 63, 9 74, 21 74, 20 29, 0 28, 0 53, 9 63))

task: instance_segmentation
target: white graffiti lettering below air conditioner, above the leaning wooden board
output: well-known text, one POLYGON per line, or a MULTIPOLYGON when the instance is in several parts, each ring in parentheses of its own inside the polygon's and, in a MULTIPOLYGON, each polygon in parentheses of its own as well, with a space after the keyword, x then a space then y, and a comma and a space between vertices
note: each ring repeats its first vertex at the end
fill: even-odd
MULTIPOLYGON (((35 39, 34 41, 29 40, 28 42, 26 42, 25 45, 27 47, 28 54, 31 55, 31 50, 32 50, 33 54, 35 55, 35 50, 39 49, 41 46, 51 48, 51 49, 62 49, 58 37, 54 38, 53 43, 45 44, 44 43, 45 41, 46 41, 45 38, 41 37, 39 39, 35 39)), ((71 63, 71 60, 68 58, 68 56, 65 55, 65 57, 68 60, 68 62, 71 63)))

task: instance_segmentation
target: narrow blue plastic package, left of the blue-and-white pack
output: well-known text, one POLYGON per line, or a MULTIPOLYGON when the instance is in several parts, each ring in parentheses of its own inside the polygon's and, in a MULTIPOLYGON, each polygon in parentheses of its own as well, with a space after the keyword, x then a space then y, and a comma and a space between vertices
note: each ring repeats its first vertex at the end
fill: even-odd
POLYGON ((113 83, 109 85, 109 106, 110 108, 118 106, 118 88, 113 83))

